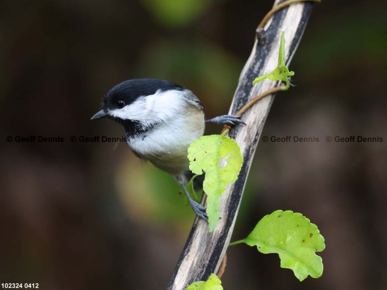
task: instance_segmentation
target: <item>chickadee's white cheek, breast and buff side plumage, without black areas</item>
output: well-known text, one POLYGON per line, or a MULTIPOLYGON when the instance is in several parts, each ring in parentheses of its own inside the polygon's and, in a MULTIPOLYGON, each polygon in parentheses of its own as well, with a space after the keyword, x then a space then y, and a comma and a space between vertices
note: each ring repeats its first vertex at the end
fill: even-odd
POLYGON ((204 133, 204 114, 196 100, 189 91, 158 91, 109 114, 155 124, 148 131, 129 137, 127 143, 140 158, 178 175, 188 170, 189 144, 204 133))

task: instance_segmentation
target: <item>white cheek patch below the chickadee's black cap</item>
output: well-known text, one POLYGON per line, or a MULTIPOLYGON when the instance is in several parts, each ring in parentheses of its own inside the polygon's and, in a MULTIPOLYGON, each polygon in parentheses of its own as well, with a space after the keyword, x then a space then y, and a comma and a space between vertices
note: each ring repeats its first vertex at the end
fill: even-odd
POLYGON ((184 109, 184 97, 181 91, 173 90, 154 95, 139 97, 132 104, 122 109, 110 110, 108 114, 123 120, 137 120, 140 122, 163 121, 174 117, 184 109))

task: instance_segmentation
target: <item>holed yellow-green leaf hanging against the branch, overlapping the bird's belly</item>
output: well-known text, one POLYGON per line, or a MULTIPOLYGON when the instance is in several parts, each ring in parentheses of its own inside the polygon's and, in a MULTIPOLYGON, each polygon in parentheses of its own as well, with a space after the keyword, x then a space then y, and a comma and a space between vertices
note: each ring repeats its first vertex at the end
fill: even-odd
POLYGON ((207 215, 210 232, 219 220, 220 196, 228 184, 235 182, 242 167, 242 156, 237 142, 227 136, 202 136, 188 148, 189 169, 206 177, 203 190, 207 193, 207 215))

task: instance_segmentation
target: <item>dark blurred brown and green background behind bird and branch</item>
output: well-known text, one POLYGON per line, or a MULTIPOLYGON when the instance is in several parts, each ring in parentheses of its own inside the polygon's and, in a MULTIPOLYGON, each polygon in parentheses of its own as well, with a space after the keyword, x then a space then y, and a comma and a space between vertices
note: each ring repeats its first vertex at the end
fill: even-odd
MULTIPOLYGON (((273 5, 251 0, 3 0, 0 2, 0 282, 41 289, 165 289, 193 221, 173 179, 141 164, 121 136, 90 121, 115 84, 168 79, 225 114, 273 5), (62 143, 6 136, 62 136, 62 143)), ((291 209, 326 238, 324 274, 300 283, 277 255, 228 251, 225 289, 387 288, 385 2, 322 1, 277 96, 232 240, 263 215, 291 209), (326 136, 383 142, 326 142, 326 136)), ((209 126, 207 132, 219 132, 209 126)))

